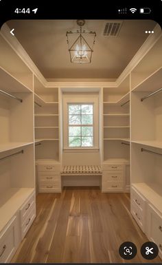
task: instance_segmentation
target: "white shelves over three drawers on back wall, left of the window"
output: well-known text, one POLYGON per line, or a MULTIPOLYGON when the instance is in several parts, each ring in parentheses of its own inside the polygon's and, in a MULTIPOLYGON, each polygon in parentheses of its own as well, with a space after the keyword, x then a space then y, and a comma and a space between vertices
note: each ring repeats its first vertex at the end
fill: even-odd
POLYGON ((34 76, 34 135, 38 193, 61 192, 58 87, 45 87, 34 76))

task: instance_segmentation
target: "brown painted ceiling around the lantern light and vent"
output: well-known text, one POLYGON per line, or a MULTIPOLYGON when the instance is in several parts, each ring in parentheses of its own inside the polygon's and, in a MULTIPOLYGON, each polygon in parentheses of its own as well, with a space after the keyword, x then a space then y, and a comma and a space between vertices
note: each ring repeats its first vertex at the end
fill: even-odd
POLYGON ((91 63, 71 63, 66 32, 76 30, 75 20, 13 20, 7 24, 49 81, 87 80, 113 81, 124 70, 148 37, 146 30, 156 25, 150 20, 125 20, 118 36, 102 36, 108 20, 86 20, 84 30, 95 31, 91 63))

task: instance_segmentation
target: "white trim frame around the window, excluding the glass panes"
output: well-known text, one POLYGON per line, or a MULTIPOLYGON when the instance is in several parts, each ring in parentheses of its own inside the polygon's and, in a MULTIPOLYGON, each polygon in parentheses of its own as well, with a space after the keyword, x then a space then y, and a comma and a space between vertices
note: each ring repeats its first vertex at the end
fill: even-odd
POLYGON ((98 151, 99 149, 99 103, 98 95, 63 95, 63 149, 65 151, 98 151), (68 146, 68 104, 93 104, 93 147, 69 147, 68 146))

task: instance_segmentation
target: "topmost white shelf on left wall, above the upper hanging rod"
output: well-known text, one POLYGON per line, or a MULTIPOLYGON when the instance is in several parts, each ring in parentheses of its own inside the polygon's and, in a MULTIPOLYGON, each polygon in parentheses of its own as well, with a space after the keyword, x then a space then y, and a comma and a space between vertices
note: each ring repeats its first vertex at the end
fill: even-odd
POLYGON ((1 80, 1 90, 4 90, 8 93, 16 93, 16 92, 32 92, 29 87, 26 87, 18 81, 14 76, 6 72, 0 67, 0 80, 1 80))

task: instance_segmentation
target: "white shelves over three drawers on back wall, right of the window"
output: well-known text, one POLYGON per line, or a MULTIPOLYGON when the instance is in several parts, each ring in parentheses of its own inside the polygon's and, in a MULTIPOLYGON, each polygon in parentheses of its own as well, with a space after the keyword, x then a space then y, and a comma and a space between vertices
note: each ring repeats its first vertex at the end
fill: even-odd
POLYGON ((102 191, 130 190, 130 75, 103 88, 102 191))

